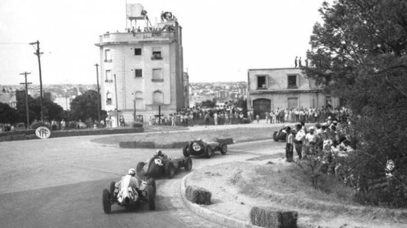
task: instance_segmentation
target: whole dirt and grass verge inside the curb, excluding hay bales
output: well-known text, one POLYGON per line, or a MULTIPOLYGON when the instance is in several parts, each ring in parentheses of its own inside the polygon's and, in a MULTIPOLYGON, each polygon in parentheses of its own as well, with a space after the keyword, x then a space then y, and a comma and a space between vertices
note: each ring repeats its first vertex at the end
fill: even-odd
POLYGON ((267 206, 298 211, 300 228, 407 227, 407 214, 403 211, 364 207, 315 190, 311 184, 305 186, 306 181, 298 182, 283 173, 293 168, 290 166, 296 165, 285 163, 281 157, 264 156, 246 162, 223 163, 194 171, 186 179, 186 185, 212 192, 213 204, 205 206, 208 209, 247 222, 252 206, 267 206), (262 175, 264 170, 270 171, 269 175, 262 175))

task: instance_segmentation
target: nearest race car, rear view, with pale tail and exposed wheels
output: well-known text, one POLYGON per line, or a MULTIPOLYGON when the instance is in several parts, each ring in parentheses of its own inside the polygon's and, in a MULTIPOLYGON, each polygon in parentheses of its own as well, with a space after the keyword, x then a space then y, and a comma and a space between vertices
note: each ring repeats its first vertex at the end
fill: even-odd
MULTIPOLYGON (((120 206, 130 207, 139 202, 147 202, 150 210, 156 209, 156 182, 152 178, 135 177, 139 180, 139 187, 135 188, 130 185, 130 175, 125 175, 120 181, 112 181, 110 190, 103 189, 103 211, 106 214, 111 212, 112 204, 117 203, 120 206)), ((134 177, 133 177, 134 178, 134 177)))

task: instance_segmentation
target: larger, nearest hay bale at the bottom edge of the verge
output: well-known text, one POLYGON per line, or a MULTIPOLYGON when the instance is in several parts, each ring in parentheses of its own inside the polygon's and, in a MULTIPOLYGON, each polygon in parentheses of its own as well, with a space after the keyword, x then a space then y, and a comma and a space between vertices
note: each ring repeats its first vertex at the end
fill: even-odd
POLYGON ((276 211, 267 207, 252 207, 250 220, 255 226, 266 228, 297 228, 298 212, 276 211))

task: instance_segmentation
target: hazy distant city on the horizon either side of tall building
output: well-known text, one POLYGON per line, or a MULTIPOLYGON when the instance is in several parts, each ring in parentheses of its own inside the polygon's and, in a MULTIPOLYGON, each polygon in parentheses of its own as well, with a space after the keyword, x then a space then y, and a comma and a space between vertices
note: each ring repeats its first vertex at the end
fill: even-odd
MULTIPOLYGON (((24 91, 24 85, 0 85, 0 102, 15 108, 15 95, 24 91)), ((69 104, 75 97, 87 90, 97 90, 96 84, 44 84, 44 99, 53 101, 64 110, 70 110, 69 104)), ((37 98, 40 96, 40 85, 28 86, 28 94, 37 98)), ((206 100, 216 99, 217 102, 245 99, 247 82, 194 82, 189 83, 189 107, 206 100)))

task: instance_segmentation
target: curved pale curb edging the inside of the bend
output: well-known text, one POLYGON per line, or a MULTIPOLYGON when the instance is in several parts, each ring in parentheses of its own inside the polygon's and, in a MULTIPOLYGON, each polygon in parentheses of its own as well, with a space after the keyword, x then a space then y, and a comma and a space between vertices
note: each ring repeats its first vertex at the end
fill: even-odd
POLYGON ((199 216, 201 216, 201 217, 203 217, 203 218, 205 218, 207 220, 218 223, 218 224, 220 224, 222 226, 225 226, 225 227, 261 228, 261 227, 258 227, 258 226, 251 225, 248 222, 244 222, 242 220, 238 220, 238 219, 226 216, 226 215, 219 214, 217 212, 211 211, 211 210, 209 210, 209 209, 207 209, 207 208, 205 208, 203 206, 200 206, 198 204, 195 204, 195 203, 192 203, 191 201, 189 201, 185 196, 185 189, 186 189, 185 179, 189 175, 191 175, 192 173, 193 172, 190 172, 189 174, 187 174, 186 176, 184 176, 181 179, 181 186, 180 186, 180 191, 181 191, 180 193, 181 193, 182 201, 184 201, 184 204, 186 205, 186 207, 189 210, 191 210, 195 214, 197 214, 197 215, 199 215, 199 216))

